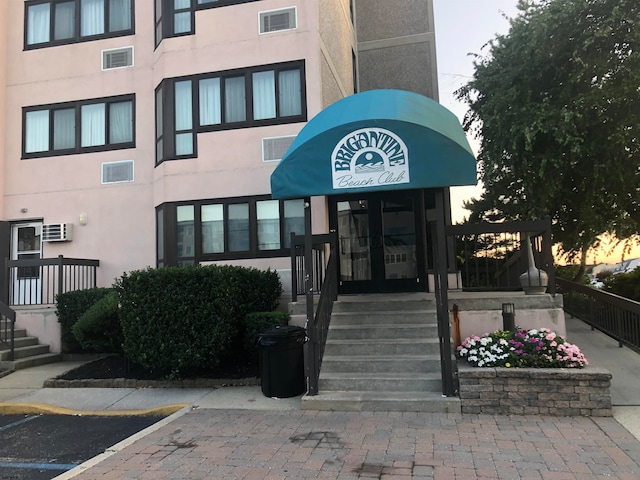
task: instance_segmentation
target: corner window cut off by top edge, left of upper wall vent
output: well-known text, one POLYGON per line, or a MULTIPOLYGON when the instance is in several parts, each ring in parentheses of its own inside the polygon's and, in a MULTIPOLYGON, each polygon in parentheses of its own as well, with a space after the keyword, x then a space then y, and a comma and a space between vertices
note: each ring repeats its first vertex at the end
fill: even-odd
POLYGON ((194 34, 196 10, 255 1, 258 0, 155 0, 156 47, 164 38, 194 34))

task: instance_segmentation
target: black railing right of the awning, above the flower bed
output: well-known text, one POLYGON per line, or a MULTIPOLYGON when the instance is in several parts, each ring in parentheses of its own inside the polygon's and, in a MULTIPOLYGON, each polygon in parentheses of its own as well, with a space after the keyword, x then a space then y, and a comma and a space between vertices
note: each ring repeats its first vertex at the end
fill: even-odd
POLYGON ((445 230, 453 238, 454 270, 462 276, 463 290, 520 290, 520 275, 529 269, 528 237, 535 266, 547 273, 548 292, 555 294, 550 219, 448 225, 445 230))

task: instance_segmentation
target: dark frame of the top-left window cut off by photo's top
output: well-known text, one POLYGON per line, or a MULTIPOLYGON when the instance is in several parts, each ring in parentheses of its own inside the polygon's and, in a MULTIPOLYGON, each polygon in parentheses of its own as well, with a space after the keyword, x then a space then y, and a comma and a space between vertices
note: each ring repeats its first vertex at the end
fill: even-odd
POLYGON ((110 31, 110 25, 109 25, 109 21, 110 21, 110 15, 109 15, 109 9, 110 9, 110 0, 104 0, 104 33, 100 33, 100 34, 96 34, 96 35, 87 35, 87 36, 83 36, 81 35, 81 31, 82 31, 82 19, 81 19, 81 12, 80 12, 80 4, 81 4, 82 0, 26 0, 24 2, 24 39, 23 39, 23 44, 24 44, 24 49, 25 50, 37 50, 40 48, 48 48, 48 47, 55 47, 58 45, 70 45, 70 44, 74 44, 74 43, 81 43, 81 42, 92 42, 95 40, 102 40, 105 38, 115 38, 115 37, 123 37, 123 36, 127 36, 127 35, 134 35, 135 34, 135 25, 136 25, 136 19, 135 19, 135 10, 136 10, 136 5, 135 2, 136 0, 131 0, 131 26, 128 29, 125 30, 116 30, 116 31, 110 31), (74 30, 74 34, 73 37, 70 38, 63 38, 60 40, 55 40, 55 5, 56 4, 60 4, 60 3, 70 3, 73 2, 75 4, 75 9, 74 9, 74 25, 73 25, 73 30, 74 30), (29 7, 31 6, 35 6, 35 5, 43 5, 43 4, 48 4, 49 5, 49 41, 48 42, 39 42, 39 43, 33 43, 33 44, 29 44, 28 40, 29 40, 29 7))

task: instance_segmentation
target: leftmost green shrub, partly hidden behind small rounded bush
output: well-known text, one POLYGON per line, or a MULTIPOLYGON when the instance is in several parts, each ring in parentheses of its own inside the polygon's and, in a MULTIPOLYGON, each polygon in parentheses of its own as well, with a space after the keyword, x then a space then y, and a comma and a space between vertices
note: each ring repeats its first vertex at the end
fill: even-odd
POLYGON ((71 329, 84 312, 111 291, 113 291, 112 288, 90 288, 56 296, 56 315, 58 322, 60 322, 63 353, 82 351, 82 346, 76 340, 71 329))

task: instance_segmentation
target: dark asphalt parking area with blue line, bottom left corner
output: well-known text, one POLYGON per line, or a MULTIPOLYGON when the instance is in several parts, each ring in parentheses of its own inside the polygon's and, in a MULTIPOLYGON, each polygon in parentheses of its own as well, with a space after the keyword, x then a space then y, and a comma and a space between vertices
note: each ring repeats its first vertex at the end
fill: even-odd
POLYGON ((0 480, 48 480, 164 417, 0 415, 0 480))

